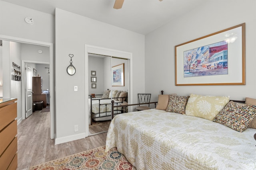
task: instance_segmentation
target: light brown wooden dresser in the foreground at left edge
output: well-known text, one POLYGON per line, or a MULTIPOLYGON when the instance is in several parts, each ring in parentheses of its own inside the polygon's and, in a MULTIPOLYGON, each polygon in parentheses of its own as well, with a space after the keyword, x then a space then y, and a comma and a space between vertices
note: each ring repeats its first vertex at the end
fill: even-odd
POLYGON ((17 99, 0 99, 0 169, 16 170, 17 99))

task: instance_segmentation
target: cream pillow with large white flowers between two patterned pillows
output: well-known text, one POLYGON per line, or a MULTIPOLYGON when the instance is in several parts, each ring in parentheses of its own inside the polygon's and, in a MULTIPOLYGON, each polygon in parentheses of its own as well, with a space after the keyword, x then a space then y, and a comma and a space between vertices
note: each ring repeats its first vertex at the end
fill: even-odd
POLYGON ((186 115, 202 117, 212 121, 228 104, 229 96, 201 96, 190 94, 186 105, 186 115))

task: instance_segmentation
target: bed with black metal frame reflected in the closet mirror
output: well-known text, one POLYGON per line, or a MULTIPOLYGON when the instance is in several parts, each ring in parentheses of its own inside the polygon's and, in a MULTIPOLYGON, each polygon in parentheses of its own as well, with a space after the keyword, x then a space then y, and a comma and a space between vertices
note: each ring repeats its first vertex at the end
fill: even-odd
MULTIPOLYGON (((108 92, 110 90, 107 90, 108 92)), ((112 118, 112 103, 114 101, 114 106, 120 106, 126 102, 127 92, 120 93, 119 96, 115 96, 115 98, 111 98, 109 96, 110 92, 103 95, 94 95, 94 96, 102 96, 102 98, 93 98, 92 95, 88 99, 89 102, 89 110, 90 110, 90 122, 92 121, 106 121, 111 120, 112 118), (105 96, 105 97, 104 97, 105 96), (125 96, 125 97, 124 97, 125 96)), ((114 115, 124 113, 123 107, 115 107, 114 108, 114 115)))

